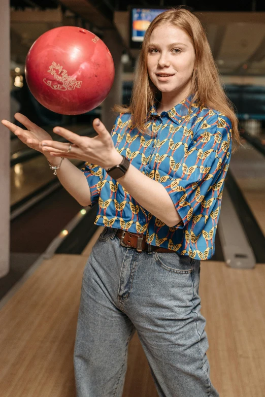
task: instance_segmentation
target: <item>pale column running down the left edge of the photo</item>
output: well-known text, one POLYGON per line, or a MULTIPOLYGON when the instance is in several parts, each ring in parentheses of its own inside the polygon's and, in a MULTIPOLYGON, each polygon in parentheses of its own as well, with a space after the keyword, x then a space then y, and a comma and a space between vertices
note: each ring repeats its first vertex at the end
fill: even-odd
MULTIPOLYGON (((10 120, 10 8, 0 1, 0 120, 10 120)), ((10 258, 10 131, 0 123, 0 277, 10 258)))

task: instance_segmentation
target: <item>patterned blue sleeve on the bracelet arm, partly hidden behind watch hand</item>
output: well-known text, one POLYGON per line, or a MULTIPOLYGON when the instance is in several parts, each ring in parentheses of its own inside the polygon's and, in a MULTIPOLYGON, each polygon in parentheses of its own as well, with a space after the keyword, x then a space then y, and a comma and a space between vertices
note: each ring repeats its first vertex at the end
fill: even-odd
MULTIPOLYGON (((115 124, 112 127, 110 133, 111 136, 113 135, 113 131, 116 127, 118 118, 119 116, 116 118, 115 124)), ((104 179, 106 171, 104 170, 104 168, 96 166, 95 164, 92 164, 90 162, 85 162, 84 167, 81 168, 81 171, 83 171, 86 177, 90 189, 91 206, 93 206, 94 204, 98 203, 98 198, 100 197, 101 192, 100 182, 104 179)))

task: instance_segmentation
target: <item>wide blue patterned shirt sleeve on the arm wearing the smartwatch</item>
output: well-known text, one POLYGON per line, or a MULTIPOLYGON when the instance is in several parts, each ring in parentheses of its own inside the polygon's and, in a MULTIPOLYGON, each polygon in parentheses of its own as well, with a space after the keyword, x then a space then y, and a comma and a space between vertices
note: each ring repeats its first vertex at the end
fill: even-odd
MULTIPOLYGON (((209 212, 214 200, 221 198, 231 153, 231 121, 213 111, 197 123, 192 141, 184 144, 179 163, 170 162, 170 178, 162 183, 168 191, 184 228, 193 215, 209 212), (185 147, 186 145, 186 147, 185 147)), ((160 171, 159 171, 160 173, 160 171)))

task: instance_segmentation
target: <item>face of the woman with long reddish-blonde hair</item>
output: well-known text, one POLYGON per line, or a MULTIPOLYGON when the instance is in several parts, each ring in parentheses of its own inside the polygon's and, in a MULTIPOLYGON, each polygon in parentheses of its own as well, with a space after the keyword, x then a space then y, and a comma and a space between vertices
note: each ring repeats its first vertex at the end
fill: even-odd
POLYGON ((190 88, 195 52, 186 32, 172 24, 157 26, 151 33, 147 68, 161 92, 180 93, 190 88))

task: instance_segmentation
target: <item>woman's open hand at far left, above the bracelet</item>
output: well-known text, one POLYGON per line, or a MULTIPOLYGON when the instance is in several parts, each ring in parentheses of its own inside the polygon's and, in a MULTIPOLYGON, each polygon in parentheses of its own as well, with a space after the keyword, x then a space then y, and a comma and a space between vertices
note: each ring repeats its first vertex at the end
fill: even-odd
POLYGON ((43 152, 41 142, 44 139, 52 141, 52 137, 50 136, 50 134, 46 133, 43 128, 39 127, 35 123, 32 123, 26 116, 21 113, 16 113, 14 117, 27 129, 22 129, 8 120, 2 120, 1 122, 7 128, 9 128, 10 131, 12 131, 12 133, 14 133, 21 142, 26 144, 28 147, 38 150, 41 153, 45 153, 43 152))

